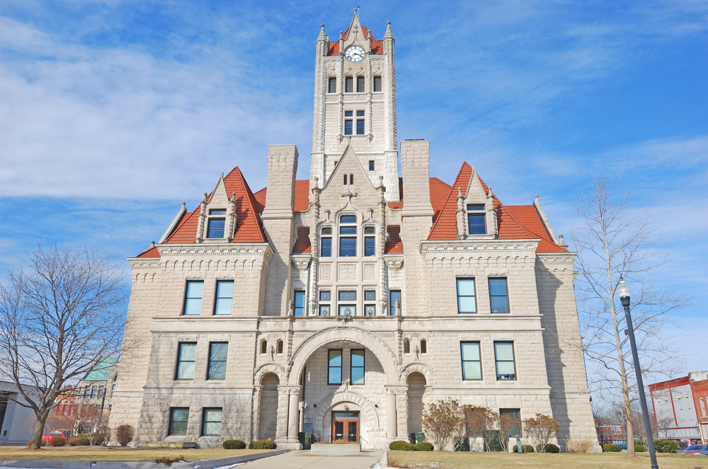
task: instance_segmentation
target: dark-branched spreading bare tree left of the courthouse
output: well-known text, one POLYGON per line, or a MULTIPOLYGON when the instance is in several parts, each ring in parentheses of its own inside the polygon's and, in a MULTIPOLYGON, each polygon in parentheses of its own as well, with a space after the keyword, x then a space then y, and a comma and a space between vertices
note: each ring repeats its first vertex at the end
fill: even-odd
POLYGON ((70 385, 119 352, 126 296, 118 265, 85 245, 40 244, 23 262, 0 284, 0 373, 17 386, 15 402, 35 412, 39 448, 70 385))

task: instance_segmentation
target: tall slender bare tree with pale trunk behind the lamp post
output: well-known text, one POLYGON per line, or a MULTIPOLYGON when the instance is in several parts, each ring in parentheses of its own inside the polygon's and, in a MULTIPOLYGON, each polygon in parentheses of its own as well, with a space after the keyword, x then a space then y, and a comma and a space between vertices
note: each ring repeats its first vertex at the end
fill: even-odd
POLYGON ((593 182, 590 192, 581 192, 577 205, 581 221, 571 233, 578 249, 576 291, 583 347, 593 387, 607 402, 624 410, 627 456, 632 457, 632 402, 637 389, 632 354, 624 350, 626 323, 615 298, 617 284, 624 279, 632 285, 632 321, 645 376, 670 376, 683 366, 682 356, 673 348, 670 329, 676 325, 670 313, 689 305, 693 298, 670 293, 658 282, 667 255, 658 246, 651 214, 632 211, 629 192, 618 192, 606 178, 595 177, 593 182))

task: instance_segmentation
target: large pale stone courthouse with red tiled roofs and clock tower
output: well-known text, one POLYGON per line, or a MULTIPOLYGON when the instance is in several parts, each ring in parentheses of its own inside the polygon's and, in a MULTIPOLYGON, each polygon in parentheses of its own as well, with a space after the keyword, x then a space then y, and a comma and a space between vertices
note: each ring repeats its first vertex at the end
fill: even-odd
POLYGON ((267 187, 222 173, 130 258, 111 427, 139 445, 298 448, 304 430, 382 448, 454 398, 597 441, 575 253, 537 198, 503 204, 468 163, 430 178, 426 140, 399 149, 394 65, 390 25, 378 40, 355 14, 333 41, 323 25, 309 180, 295 146, 269 146, 267 187))

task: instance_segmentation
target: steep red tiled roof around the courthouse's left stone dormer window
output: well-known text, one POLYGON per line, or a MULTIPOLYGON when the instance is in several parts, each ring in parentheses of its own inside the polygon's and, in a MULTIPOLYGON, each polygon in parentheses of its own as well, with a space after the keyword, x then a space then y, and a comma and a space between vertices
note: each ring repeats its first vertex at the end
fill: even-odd
MULTIPOLYGON (((224 177, 224 185, 229 197, 236 192, 236 231, 234 243, 265 243, 258 214, 261 212, 258 201, 251 192, 249 183, 238 166, 224 177)), ((207 197, 210 198, 211 195, 207 197)), ((166 244, 191 244, 197 237, 197 226, 201 207, 194 212, 186 213, 178 222, 177 227, 166 239, 166 244)))

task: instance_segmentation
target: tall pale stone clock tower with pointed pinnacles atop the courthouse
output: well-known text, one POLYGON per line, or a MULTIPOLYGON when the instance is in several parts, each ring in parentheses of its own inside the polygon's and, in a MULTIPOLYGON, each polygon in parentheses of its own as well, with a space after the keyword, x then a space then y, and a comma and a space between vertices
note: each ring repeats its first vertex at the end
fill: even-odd
POLYGON ((396 144, 394 35, 383 40, 360 25, 356 10, 349 28, 330 41, 324 25, 317 37, 310 187, 323 188, 350 147, 372 184, 380 178, 387 202, 399 195, 396 144))

